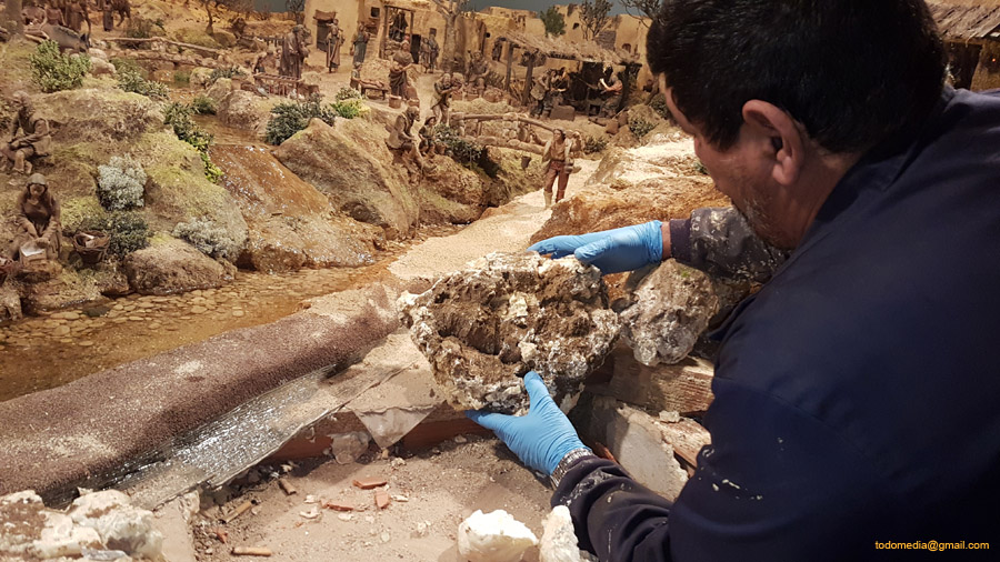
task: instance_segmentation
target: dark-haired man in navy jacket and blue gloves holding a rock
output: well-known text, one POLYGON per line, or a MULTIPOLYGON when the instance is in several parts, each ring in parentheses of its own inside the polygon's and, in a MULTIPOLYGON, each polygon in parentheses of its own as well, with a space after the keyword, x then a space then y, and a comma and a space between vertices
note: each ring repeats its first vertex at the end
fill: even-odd
POLYGON ((583 446, 537 375, 527 415, 470 417, 552 476, 601 560, 996 549, 1000 94, 944 86, 922 0, 666 0, 648 52, 747 220, 531 249, 606 273, 671 257, 733 272, 750 224, 791 252, 713 334, 712 443, 669 501, 583 446))

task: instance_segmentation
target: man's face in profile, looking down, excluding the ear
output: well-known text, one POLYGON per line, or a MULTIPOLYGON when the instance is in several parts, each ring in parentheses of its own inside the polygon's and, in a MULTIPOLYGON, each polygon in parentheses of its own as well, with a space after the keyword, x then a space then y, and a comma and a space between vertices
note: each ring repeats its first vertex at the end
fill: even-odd
MULTIPOLYGON (((662 79, 661 79, 662 80, 662 79)), ((667 108, 674 121, 694 138, 694 153, 704 164, 716 182, 716 189, 732 199, 733 205, 743 213, 759 237, 774 245, 781 244, 780 209, 774 201, 777 184, 771 177, 772 160, 749 142, 743 142, 742 132, 737 142, 720 150, 702 134, 701 129, 690 122, 673 102, 673 90, 660 83, 664 92, 667 108)))

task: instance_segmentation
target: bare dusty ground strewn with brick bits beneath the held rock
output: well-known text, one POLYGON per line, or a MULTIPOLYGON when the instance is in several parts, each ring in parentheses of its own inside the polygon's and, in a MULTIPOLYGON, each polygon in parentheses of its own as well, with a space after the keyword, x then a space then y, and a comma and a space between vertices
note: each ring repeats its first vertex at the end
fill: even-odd
MULTIPOLYGON (((400 451, 401 459, 301 466, 284 476, 298 490, 294 495, 286 495, 274 480, 249 485, 222 510, 251 500, 259 503, 253 511, 223 525, 216 519, 218 508, 212 508, 194 522, 198 560, 239 560, 230 554, 232 548, 264 546, 273 552, 273 561, 459 562, 458 525, 476 510, 506 510, 541 538, 542 519, 550 510, 546 485, 496 439, 470 435, 458 441, 463 443, 449 441, 417 454, 400 451), (393 498, 388 508, 376 506, 374 490, 352 485, 364 476, 389 481, 380 489, 393 498), (310 495, 316 503, 307 503, 310 495), (327 502, 353 511, 322 509, 327 502), (313 508, 319 516, 302 515, 313 508), (224 530, 226 544, 212 529, 224 530)), ((538 560, 538 549, 529 550, 524 560, 538 560)))

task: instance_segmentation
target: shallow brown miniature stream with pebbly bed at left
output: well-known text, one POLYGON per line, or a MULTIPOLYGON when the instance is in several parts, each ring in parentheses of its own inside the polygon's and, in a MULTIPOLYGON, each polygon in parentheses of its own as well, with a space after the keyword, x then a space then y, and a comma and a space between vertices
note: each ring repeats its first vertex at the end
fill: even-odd
MULTIPOLYGON (((246 131, 203 123, 220 144, 258 144, 246 131)), ((130 294, 26 318, 0 328, 0 401, 222 332, 273 322, 299 310, 306 299, 378 281, 410 245, 459 228, 422 228, 411 240, 387 243, 374 263, 362 268, 276 274, 241 270, 233 282, 218 289, 163 297, 130 294)))

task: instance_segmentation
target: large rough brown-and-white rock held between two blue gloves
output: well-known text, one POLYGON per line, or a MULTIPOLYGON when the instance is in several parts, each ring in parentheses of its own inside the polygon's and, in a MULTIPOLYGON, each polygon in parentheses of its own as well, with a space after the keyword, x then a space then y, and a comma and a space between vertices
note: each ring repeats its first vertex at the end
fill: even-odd
POLYGON ((521 377, 537 371, 557 403, 579 392, 618 339, 597 268, 574 258, 492 253, 403 294, 402 322, 456 408, 528 410, 521 377))

